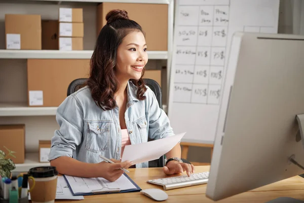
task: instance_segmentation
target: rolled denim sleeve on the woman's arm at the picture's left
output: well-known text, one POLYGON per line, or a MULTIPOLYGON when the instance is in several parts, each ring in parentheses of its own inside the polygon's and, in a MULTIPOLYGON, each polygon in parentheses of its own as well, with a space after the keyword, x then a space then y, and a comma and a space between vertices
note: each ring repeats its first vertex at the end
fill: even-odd
POLYGON ((75 95, 70 95, 62 102, 56 112, 59 130, 55 130, 51 140, 49 161, 60 156, 72 157, 81 144, 83 136, 83 109, 75 95))

